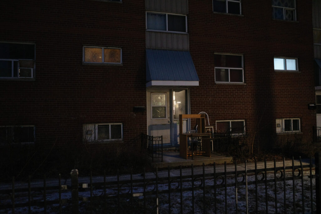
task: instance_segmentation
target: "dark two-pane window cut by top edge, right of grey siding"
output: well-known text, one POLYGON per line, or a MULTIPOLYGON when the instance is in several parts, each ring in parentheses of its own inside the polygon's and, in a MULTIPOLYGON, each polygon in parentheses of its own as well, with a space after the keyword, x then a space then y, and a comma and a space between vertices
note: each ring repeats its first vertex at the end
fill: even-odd
POLYGON ((213 12, 241 14, 241 0, 213 0, 213 12))

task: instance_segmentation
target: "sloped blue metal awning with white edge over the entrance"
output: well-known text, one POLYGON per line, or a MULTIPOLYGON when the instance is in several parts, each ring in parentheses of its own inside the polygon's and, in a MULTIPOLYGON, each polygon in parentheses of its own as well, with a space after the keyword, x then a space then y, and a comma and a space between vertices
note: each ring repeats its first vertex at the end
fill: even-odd
POLYGON ((198 86, 189 51, 146 49, 146 87, 198 86))

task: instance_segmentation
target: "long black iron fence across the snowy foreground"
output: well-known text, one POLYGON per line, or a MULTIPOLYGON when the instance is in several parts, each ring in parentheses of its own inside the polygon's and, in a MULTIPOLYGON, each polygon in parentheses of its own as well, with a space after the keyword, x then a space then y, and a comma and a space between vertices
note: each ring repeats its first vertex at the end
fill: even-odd
POLYGON ((316 166, 257 163, 193 167, 142 174, 44 179, 2 185, 4 213, 320 213, 320 157, 316 166), (314 168, 316 167, 316 168, 314 168), (315 172, 315 174, 314 174, 315 172), (62 184, 63 183, 63 184, 62 184), (19 185, 19 186, 18 186, 19 185))

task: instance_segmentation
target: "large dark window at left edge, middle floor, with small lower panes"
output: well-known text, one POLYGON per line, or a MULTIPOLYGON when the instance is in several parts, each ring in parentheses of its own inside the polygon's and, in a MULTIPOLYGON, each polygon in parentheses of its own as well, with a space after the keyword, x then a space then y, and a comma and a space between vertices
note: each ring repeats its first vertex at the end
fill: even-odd
POLYGON ((0 78, 33 78, 35 45, 0 42, 0 78))

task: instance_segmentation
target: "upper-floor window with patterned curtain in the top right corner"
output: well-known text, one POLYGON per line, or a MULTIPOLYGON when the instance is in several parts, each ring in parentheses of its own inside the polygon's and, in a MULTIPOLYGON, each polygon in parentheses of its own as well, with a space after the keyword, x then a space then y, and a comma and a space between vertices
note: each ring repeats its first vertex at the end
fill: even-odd
POLYGON ((295 0, 272 0, 273 19, 296 20, 295 0))

